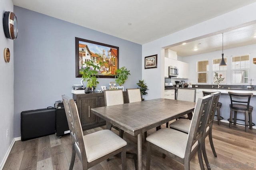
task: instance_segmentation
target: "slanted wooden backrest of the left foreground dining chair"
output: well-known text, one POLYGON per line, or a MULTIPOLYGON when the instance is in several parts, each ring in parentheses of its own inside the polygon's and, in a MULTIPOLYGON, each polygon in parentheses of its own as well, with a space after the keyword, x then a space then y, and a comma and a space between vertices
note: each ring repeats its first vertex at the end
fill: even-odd
POLYGON ((87 161, 86 151, 84 148, 83 131, 76 103, 74 102, 74 99, 66 95, 62 95, 62 100, 68 121, 72 144, 75 147, 75 150, 78 151, 77 154, 81 162, 82 160, 87 161))

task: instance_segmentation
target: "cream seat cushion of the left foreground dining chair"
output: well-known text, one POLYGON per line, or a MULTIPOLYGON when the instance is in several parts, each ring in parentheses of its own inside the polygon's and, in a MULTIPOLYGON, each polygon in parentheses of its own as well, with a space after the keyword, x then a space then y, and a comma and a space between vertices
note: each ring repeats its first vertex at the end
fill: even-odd
POLYGON ((123 146, 126 141, 111 130, 100 130, 83 136, 88 162, 92 162, 123 146))

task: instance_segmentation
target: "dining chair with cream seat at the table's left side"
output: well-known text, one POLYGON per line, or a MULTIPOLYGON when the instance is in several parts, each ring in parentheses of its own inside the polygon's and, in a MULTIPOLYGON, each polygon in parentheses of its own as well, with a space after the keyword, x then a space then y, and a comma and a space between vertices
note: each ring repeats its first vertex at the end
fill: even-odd
POLYGON ((122 169, 125 170, 127 142, 107 129, 83 135, 74 99, 62 95, 62 100, 72 140, 72 156, 69 170, 74 167, 76 154, 82 162, 83 170, 87 170, 118 153, 121 153, 122 169))

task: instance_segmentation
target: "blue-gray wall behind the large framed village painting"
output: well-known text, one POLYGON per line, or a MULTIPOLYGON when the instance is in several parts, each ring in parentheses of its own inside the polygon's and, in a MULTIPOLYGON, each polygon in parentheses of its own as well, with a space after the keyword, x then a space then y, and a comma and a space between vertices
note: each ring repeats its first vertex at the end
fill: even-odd
MULTIPOLYGON (((124 88, 142 79, 142 45, 14 6, 18 38, 14 42, 14 136, 20 136, 20 113, 53 106, 61 95, 72 96, 75 37, 119 47, 119 67, 130 70, 124 88)), ((100 20, 98 21, 100 22, 100 20)), ((113 23, 111 23, 113 24, 113 23)), ((100 78, 100 86, 115 79, 100 78)))

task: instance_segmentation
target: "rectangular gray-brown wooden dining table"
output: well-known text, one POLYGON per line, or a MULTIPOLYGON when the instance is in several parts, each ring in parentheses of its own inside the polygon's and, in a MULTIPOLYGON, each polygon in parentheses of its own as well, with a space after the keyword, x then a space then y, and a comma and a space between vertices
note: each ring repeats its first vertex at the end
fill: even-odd
POLYGON ((195 102, 159 98, 90 110, 106 120, 106 128, 110 129, 114 125, 137 136, 138 170, 142 170, 142 133, 191 113, 195 106, 195 102))

